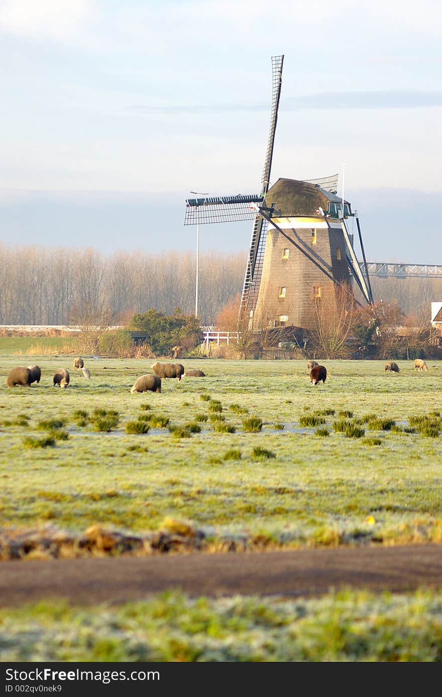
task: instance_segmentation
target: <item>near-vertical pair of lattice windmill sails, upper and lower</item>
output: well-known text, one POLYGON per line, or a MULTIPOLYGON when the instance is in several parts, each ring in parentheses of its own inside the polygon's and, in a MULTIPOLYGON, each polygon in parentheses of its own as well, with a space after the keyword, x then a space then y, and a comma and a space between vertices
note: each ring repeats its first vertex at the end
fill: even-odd
MULTIPOLYGON (((266 194, 270 186, 270 171, 272 168, 273 146, 275 144, 275 132, 277 112, 280 105, 282 63, 284 56, 272 56, 272 112, 270 116, 270 132, 268 134, 266 161, 261 180, 261 192, 266 194)), ((261 281, 264 250, 266 248, 267 221, 257 215, 254 219, 252 238, 250 240, 249 256, 245 268, 243 293, 241 295, 240 316, 247 309, 254 309, 257 301, 257 291, 261 281)))

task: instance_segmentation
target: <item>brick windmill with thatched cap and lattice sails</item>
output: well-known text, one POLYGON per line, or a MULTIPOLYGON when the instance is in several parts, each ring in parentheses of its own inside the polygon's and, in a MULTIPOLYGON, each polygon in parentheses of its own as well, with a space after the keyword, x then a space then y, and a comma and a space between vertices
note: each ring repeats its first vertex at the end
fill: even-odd
POLYGON ((240 319, 250 318, 253 326, 270 302, 273 326, 310 329, 325 284, 336 289, 354 280, 368 305, 373 296, 359 219, 344 195, 337 195, 337 174, 305 181, 280 178, 270 187, 283 62, 284 56, 272 57, 270 132, 260 193, 187 199, 184 224, 253 220, 240 319), (347 227, 349 217, 356 217, 365 274, 347 227))

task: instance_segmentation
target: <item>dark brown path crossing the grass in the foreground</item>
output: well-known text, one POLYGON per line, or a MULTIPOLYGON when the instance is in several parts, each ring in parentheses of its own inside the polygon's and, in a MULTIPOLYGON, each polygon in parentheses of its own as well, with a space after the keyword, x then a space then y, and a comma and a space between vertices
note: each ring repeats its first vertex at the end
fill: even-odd
POLYGON ((442 544, 0 562, 0 606, 42 598, 118 603, 171 588, 192 596, 293 597, 424 585, 442 588, 442 544))

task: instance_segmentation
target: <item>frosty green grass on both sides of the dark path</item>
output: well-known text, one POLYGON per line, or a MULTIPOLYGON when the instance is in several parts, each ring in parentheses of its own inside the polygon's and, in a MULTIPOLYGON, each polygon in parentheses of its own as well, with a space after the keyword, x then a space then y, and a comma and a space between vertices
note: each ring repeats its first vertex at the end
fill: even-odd
MULTIPOLYGON (((72 358, 38 355, 24 361, 1 355, 3 530, 12 534, 49 523, 81 533, 98 523, 143 533, 172 519, 177 526, 203 530, 207 551, 226 549, 232 540, 240 549, 442 541, 440 362, 427 361, 427 372, 415 372, 412 361, 399 362, 400 373, 390 374, 380 361, 324 361, 328 379, 318 386, 310 384, 305 361, 182 362, 203 369, 206 378, 163 380, 161 394, 131 395, 137 376, 151 372, 145 360, 84 358, 91 370, 86 381, 72 368, 72 358), (31 363, 42 369, 40 385, 6 388, 8 369, 31 363), (66 390, 52 387, 57 367, 70 372, 66 390), (118 413, 112 430, 93 430, 95 409, 118 413), (75 415, 78 411, 86 417, 75 415), (146 433, 126 432, 128 422, 139 423, 141 416, 149 423, 151 415, 156 420, 146 433), (422 428, 423 415, 429 415, 429 430, 422 428), (247 431, 243 420, 249 418, 261 421, 261 428, 247 431), (62 424, 54 429, 49 422, 57 420, 62 424), (347 434, 342 424, 336 426, 342 421, 347 434), (224 431, 217 430, 221 424, 227 424, 224 431), (412 424, 418 430, 409 428, 412 424), (169 427, 178 429, 174 433, 169 427), (328 435, 318 435, 318 429, 328 435), (53 438, 54 445, 25 447, 26 438, 33 445, 53 438)), ((98 607, 95 613, 88 610, 102 640, 97 639, 91 660, 439 661, 437 597, 393 600, 349 593, 286 603, 281 610, 275 603, 284 605, 282 600, 201 599, 198 604, 172 594, 121 611, 98 607), (413 626, 404 620, 410 608, 413 626), (298 611, 303 619, 295 621, 298 611), (281 622, 278 613, 292 624, 281 622), (120 620, 124 615, 124 627, 127 617, 135 618, 123 634, 109 629, 117 615, 120 620), (153 618, 143 631, 137 629, 138 615, 153 618), (220 641, 209 631, 212 625, 220 641), (301 625, 310 629, 298 636, 301 625), (139 631, 144 638, 137 644, 139 631), (126 646, 141 646, 141 654, 123 649, 126 634, 126 646), (329 650, 326 636, 336 638, 329 650), (282 648, 287 641, 290 659, 282 648)), ((84 659, 81 609, 39 606, 26 613, 3 611, 0 617, 1 627, 11 622, 17 627, 3 651, 8 659, 84 659), (72 627, 72 641, 47 648, 65 625, 72 627)))

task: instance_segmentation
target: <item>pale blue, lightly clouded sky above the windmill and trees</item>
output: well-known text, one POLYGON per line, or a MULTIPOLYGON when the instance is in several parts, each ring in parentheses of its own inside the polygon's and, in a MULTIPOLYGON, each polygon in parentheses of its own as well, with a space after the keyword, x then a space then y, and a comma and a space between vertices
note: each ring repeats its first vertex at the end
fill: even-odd
POLYGON ((439 0, 0 0, 0 242, 195 250, 190 191, 259 192, 284 54, 271 181, 345 163, 367 258, 442 264, 441 26, 439 0))

